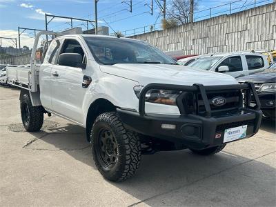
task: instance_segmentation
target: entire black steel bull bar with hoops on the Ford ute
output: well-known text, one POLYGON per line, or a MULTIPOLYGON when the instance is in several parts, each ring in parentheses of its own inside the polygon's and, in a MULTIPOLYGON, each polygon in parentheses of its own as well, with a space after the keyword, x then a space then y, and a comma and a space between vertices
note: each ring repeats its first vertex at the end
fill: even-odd
MULTIPOLYGON (((259 109, 259 99, 256 97, 257 93, 253 84, 249 84, 248 87, 235 85, 229 86, 229 88, 237 87, 241 90, 248 90, 245 97, 250 97, 251 92, 253 92, 257 102, 255 108, 251 108, 249 106, 250 101, 245 99, 244 107, 223 112, 211 111, 209 101, 206 99, 206 90, 217 90, 216 88, 213 86, 205 88, 203 86, 199 86, 198 88, 193 87, 194 86, 168 86, 152 83, 150 86, 145 86, 141 91, 139 97, 139 113, 122 109, 117 109, 117 112, 126 128, 139 132, 142 135, 184 144, 188 148, 201 149, 219 146, 224 142, 224 130, 228 128, 247 125, 246 137, 251 137, 258 132, 262 121, 262 110, 259 109), (152 88, 164 88, 169 90, 172 88, 180 88, 183 91, 199 90, 201 96, 204 97, 206 115, 185 114, 185 112, 181 112, 181 115, 146 114, 144 96, 146 92, 152 88), (170 126, 172 128, 165 128, 164 126, 170 126)), ((218 88, 227 87, 218 86, 218 88)), ((181 106, 178 107, 179 111, 181 111, 181 106)), ((182 110, 184 110, 184 108, 182 110)))

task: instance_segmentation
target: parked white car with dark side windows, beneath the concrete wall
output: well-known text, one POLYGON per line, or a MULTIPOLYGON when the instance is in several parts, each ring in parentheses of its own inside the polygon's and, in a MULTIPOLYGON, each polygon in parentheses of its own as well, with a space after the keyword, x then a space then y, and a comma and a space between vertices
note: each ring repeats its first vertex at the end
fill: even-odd
POLYGON ((200 57, 189 64, 189 67, 224 73, 233 77, 252 75, 269 67, 265 55, 257 53, 216 53, 200 57))

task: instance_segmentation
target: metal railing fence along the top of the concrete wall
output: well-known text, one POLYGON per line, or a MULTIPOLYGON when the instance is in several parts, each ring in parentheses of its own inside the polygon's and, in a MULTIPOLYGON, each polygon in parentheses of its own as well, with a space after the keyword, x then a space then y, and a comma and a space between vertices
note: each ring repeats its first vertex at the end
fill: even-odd
MULTIPOLYGON (((195 21, 201 21, 204 19, 209 19, 212 17, 217 17, 223 14, 233 14, 236 12, 241 12, 244 10, 248 10, 250 8, 255 8, 257 6, 263 6, 268 3, 273 3, 273 0, 237 0, 237 1, 231 1, 230 3, 225 3, 219 6, 215 6, 212 8, 208 8, 205 10, 200 10, 197 12, 194 12, 194 22, 195 21)), ((143 26, 140 28, 134 28, 131 30, 125 30, 121 31, 121 34, 124 35, 124 37, 130 37, 135 36, 137 34, 145 34, 148 32, 154 32, 157 30, 162 30, 161 22, 155 23, 148 26, 143 26)), ((114 35, 114 34, 110 34, 114 35)))

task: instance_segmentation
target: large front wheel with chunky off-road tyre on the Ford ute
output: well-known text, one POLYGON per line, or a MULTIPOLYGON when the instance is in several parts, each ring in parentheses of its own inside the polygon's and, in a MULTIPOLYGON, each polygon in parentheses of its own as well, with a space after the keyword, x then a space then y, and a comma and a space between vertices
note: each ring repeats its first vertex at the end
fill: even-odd
POLYGON ((141 161, 139 136, 126 130, 116 112, 106 112, 97 117, 90 139, 93 159, 103 177, 110 181, 124 181, 135 175, 141 161), (112 146, 116 146, 103 144, 108 139, 112 140, 112 146), (108 149, 113 151, 108 152, 108 149))

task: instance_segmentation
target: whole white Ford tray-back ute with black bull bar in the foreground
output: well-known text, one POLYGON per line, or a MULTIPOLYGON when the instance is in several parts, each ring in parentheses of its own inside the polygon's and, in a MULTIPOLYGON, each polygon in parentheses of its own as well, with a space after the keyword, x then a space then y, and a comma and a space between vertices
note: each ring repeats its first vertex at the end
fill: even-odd
POLYGON ((43 114, 86 128, 97 168, 123 181, 139 168, 141 154, 189 148, 212 155, 229 141, 255 135, 262 111, 252 83, 194 70, 148 43, 88 34, 55 38, 45 59, 8 68, 21 87, 23 126, 40 130, 43 114))

